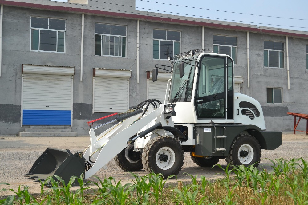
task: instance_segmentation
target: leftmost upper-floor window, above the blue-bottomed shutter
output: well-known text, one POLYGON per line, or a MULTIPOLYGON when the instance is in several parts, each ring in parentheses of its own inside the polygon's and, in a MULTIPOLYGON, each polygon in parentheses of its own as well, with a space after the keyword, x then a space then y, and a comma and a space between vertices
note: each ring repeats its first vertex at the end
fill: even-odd
POLYGON ((66 20, 31 17, 31 50, 65 52, 66 20))

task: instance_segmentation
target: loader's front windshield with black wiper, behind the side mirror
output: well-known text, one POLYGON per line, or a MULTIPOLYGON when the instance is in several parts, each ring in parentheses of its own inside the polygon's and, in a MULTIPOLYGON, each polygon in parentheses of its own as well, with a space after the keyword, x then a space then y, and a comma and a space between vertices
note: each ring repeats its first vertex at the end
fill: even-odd
MULTIPOLYGON (((190 63, 191 61, 187 61, 190 63)), ((193 76, 195 74, 195 66, 184 64, 184 76, 180 78, 180 63, 173 65, 171 77, 171 86, 168 103, 171 102, 189 102, 192 99, 193 76)))

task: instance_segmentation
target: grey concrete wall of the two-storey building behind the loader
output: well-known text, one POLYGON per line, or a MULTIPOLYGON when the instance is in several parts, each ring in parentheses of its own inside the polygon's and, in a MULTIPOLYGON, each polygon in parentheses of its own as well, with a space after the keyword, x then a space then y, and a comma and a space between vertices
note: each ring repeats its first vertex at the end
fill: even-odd
MULTIPOLYGON (((35 1, 32 2, 35 3, 35 1)), ((88 6, 91 6, 90 2, 88 6)), ((121 2, 122 5, 135 5, 135 1, 132 0, 119 2, 121 2)), ((115 1, 115 3, 117 2, 115 1)), ((56 3, 53 2, 51 4, 56 3)), ((113 9, 120 10, 120 7, 113 7, 113 9)), ((130 9, 128 10, 131 11, 130 9)), ((26 127, 21 127, 20 125, 21 65, 23 63, 75 66, 72 130, 77 131, 78 134, 81 135, 87 134, 88 132, 87 121, 108 114, 92 114, 93 67, 132 70, 132 77, 129 79, 129 106, 132 107, 147 98, 146 71, 152 70, 156 64, 170 65, 166 60, 153 60, 153 29, 181 31, 181 52, 202 48, 201 26, 140 21, 140 83, 137 83, 137 20, 85 14, 83 79, 80 81, 82 14, 12 6, 4 6, 3 13, 2 77, 0 77, 0 135, 17 134, 18 131, 23 131, 26 127), (62 18, 67 20, 65 54, 30 51, 31 16, 62 18), (127 26, 127 57, 95 56, 95 23, 127 26), (10 94, 8 95, 7 93, 10 94)), ((306 89, 308 72, 306 70, 305 54, 305 46, 308 44, 308 40, 289 38, 289 90, 286 71, 286 52, 284 53, 284 68, 264 68, 263 66, 263 41, 286 42, 286 37, 250 32, 250 88, 248 88, 247 33, 244 31, 205 27, 205 48, 210 50, 213 50, 213 35, 237 37, 237 64, 235 65, 235 75, 244 77, 244 82, 241 85, 242 92, 254 97, 261 103, 267 129, 291 131, 293 129, 294 118, 288 116, 286 112, 307 113, 308 111, 306 107, 308 102, 308 92, 306 89), (281 104, 266 103, 266 87, 282 88, 281 104)), ((102 122, 107 121, 108 120, 103 120, 102 122)), ((306 128, 306 123, 301 123, 298 128, 304 130, 306 128)))

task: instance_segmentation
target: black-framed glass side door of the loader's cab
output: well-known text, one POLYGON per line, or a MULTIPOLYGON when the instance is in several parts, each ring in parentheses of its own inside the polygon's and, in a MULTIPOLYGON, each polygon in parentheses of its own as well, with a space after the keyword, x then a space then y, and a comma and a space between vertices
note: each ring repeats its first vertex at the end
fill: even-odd
POLYGON ((226 57, 201 58, 194 100, 197 119, 227 119, 226 76, 226 57))

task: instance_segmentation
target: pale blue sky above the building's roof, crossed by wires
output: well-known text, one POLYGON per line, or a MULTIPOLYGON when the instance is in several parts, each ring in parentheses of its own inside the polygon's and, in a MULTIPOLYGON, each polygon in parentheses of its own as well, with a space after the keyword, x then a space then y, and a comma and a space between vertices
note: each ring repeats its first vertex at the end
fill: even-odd
MULTIPOLYGON (((54 1, 67 2, 67 0, 54 1)), ((136 10, 308 31, 308 0, 194 0, 192 2, 187 0, 136 0, 136 10)))

